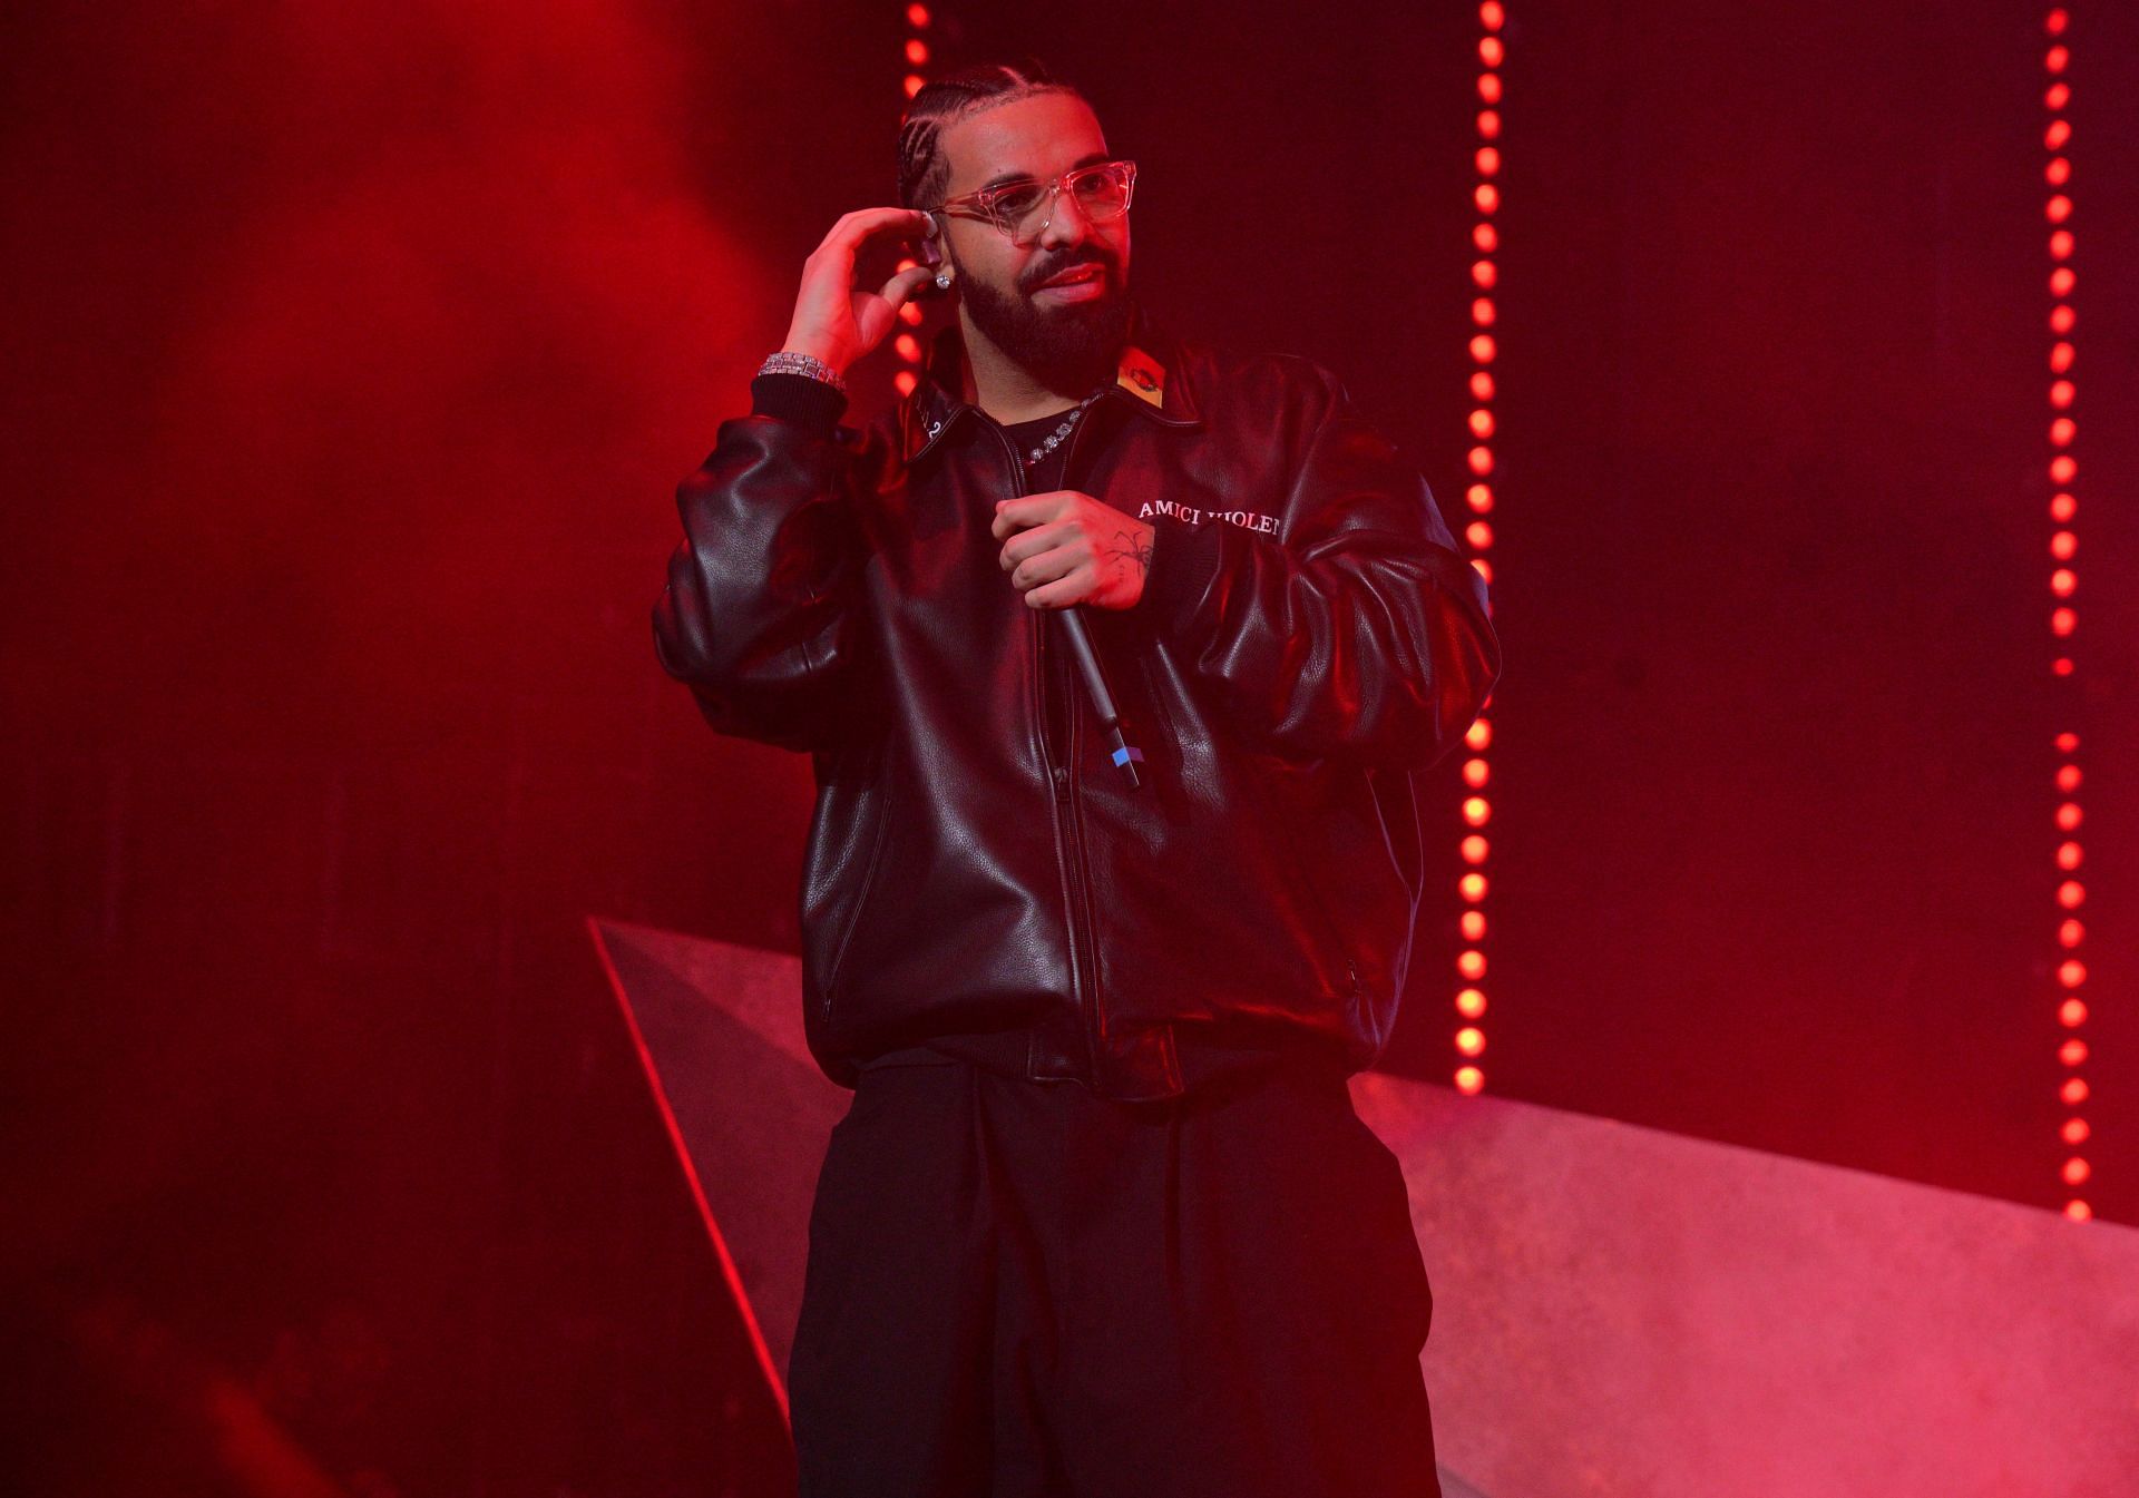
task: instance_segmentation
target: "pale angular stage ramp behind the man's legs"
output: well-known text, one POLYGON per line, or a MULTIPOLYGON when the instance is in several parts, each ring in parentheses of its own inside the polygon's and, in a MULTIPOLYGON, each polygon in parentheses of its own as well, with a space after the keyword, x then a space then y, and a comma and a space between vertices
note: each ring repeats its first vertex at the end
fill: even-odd
MULTIPOLYGON (((783 1372, 847 1092, 794 957, 590 921, 783 1372)), ((1354 1077, 1433 1280, 1448 1498, 2139 1498, 2139 1231, 1354 1077)))

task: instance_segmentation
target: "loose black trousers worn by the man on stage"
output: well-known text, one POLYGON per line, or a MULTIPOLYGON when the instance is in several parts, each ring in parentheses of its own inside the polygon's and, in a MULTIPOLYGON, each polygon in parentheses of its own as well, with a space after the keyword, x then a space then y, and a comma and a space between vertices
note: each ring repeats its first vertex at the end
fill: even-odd
POLYGON ((1164 1103, 877 1066, 817 1177, 800 1498, 1440 1498, 1431 1314, 1333 1066, 1164 1103))

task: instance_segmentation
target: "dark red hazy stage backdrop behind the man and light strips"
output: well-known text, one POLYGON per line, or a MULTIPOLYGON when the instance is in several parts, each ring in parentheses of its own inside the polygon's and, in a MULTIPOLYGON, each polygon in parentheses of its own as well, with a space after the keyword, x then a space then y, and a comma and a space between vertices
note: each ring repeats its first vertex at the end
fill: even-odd
MULTIPOLYGON (((901 6, 9 32, 0 1269, 41 1492, 222 1492, 218 1372, 387 1492, 744 1492, 766 1410, 580 917, 796 945, 806 763, 710 737, 646 615, 802 256, 892 194, 901 6)), ((1335 368, 1461 526, 1469 6, 937 38, 1084 81, 1153 306, 1335 368)), ((2071 32, 2073 682, 2041 13, 1546 0, 1508 45, 1491 1090, 2060 1205, 2077 727, 2088 1197, 2139 1222, 2139 24, 2071 32)), ((1452 919, 1388 1058, 1435 1081, 1452 919)))

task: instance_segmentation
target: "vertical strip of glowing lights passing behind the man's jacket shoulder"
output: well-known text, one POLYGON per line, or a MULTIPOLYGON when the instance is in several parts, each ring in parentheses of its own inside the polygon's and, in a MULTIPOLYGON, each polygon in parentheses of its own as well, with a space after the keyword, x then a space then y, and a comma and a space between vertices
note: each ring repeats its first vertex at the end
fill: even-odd
MULTIPOLYGON (((1478 220, 1472 224, 1472 376, 1469 376, 1469 487, 1463 491, 1463 500, 1469 506, 1469 521, 1463 526, 1463 541, 1472 551, 1472 566, 1487 579, 1493 581, 1493 562, 1489 551, 1493 549, 1493 521, 1487 515, 1493 513, 1493 359, 1499 353, 1493 344, 1493 318, 1497 316, 1493 303, 1493 286, 1499 282, 1499 269, 1495 254, 1499 254, 1499 229, 1493 220, 1499 214, 1499 68, 1506 60, 1506 41, 1502 30, 1508 24, 1508 9, 1499 0, 1484 0, 1478 6, 1478 150, 1474 160, 1478 180, 1472 186, 1472 205, 1478 209, 1478 220)), ((1491 765, 1487 763, 1487 748, 1493 744, 1493 701, 1487 699, 1487 709, 1478 716, 1478 722, 1469 727, 1463 735, 1463 746, 1467 756, 1463 759, 1463 876, 1457 880, 1457 893, 1463 895, 1461 934, 1463 949, 1457 953, 1457 979, 1461 987, 1457 989, 1457 1071, 1455 1083, 1457 1092, 1478 1094, 1484 1092, 1484 1066, 1478 1058, 1484 1056, 1484 895, 1487 895, 1487 855, 1491 844, 1484 836, 1484 825, 1493 816, 1493 803, 1487 799, 1487 782, 1491 780, 1491 765)))

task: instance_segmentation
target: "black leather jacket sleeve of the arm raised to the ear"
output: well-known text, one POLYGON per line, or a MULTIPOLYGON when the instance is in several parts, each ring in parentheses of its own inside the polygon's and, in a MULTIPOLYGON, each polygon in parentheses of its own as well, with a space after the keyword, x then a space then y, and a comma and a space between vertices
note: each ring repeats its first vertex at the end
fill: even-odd
POLYGON ((856 453, 832 421, 764 406, 723 421, 676 487, 684 534, 652 611, 655 656, 717 731, 811 750, 856 673, 856 453))

